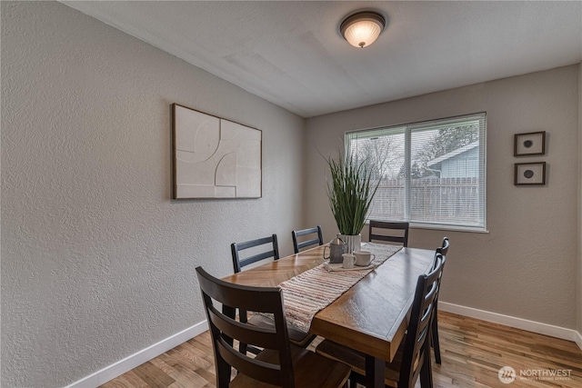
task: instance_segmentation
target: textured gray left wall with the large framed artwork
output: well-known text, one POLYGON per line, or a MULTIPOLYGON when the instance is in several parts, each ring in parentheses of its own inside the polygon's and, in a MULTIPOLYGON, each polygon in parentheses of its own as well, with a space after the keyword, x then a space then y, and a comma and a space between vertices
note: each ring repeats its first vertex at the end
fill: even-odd
POLYGON ((2 382, 73 383, 205 319, 195 267, 300 226, 305 121, 57 3, 2 2, 2 382), (171 198, 170 104, 263 131, 263 198, 171 198))

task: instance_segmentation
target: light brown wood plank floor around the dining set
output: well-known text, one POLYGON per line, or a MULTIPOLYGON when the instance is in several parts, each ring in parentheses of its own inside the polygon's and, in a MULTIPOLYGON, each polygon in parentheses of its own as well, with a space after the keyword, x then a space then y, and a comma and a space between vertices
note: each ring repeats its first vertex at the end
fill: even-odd
MULTIPOLYGON (((576 343, 452 313, 439 312, 438 324, 443 363, 437 365, 433 360, 437 387, 582 387, 582 351, 576 343), (514 383, 499 381, 497 373, 503 366, 516 370, 514 383), (521 371, 531 374, 538 370, 566 370, 570 375, 565 380, 520 378, 521 371)), ((215 387, 214 368, 206 332, 102 387, 215 387)))

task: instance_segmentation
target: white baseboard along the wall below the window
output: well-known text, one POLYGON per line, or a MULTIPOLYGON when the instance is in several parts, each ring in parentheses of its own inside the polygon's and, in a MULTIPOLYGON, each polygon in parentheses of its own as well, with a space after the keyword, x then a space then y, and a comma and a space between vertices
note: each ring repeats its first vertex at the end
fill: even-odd
POLYGON ((529 321, 527 319, 517 318, 515 316, 504 315, 501 313, 491 313, 484 310, 474 309, 472 307, 461 306, 458 304, 438 301, 438 309, 447 313, 457 313, 459 315, 477 318, 482 321, 505 324, 516 329, 527 330, 528 332, 546 334, 551 337, 561 338, 563 340, 577 343, 582 350, 582 335, 576 330, 566 329, 564 327, 554 326, 547 323, 529 321))

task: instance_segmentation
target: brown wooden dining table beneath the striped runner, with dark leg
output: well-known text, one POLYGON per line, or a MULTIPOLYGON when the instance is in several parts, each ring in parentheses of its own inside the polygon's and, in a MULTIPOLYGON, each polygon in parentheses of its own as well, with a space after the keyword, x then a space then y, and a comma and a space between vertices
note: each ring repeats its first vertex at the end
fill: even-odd
MULTIPOLYGON (((366 249, 362 244, 362 249, 366 249)), ((223 278, 234 284, 276 286, 324 263, 324 246, 291 254, 223 278)), ((381 244, 374 244, 375 251, 381 244)), ((366 387, 384 387, 406 333, 418 275, 426 274, 435 251, 402 248, 314 316, 310 333, 366 354, 366 387)))

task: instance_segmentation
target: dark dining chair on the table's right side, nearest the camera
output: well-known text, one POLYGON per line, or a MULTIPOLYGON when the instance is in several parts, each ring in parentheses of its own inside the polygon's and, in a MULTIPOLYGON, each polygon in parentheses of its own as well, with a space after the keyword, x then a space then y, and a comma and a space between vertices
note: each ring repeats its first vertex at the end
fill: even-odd
MULTIPOLYGON (((392 363, 386 362, 385 383, 392 387, 414 387, 418 376, 422 387, 432 388, 430 360, 430 330, 438 293, 438 279, 442 274, 442 254, 437 254, 435 267, 429 274, 418 276, 416 293, 406 337, 398 347, 392 363)), ((342 344, 324 340, 316 347, 316 353, 336 361, 347 363, 352 368, 351 383, 364 383, 366 354, 342 344)))

